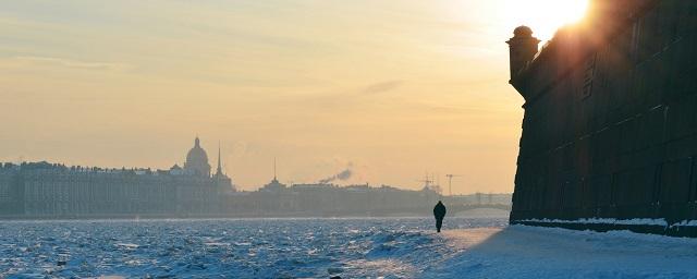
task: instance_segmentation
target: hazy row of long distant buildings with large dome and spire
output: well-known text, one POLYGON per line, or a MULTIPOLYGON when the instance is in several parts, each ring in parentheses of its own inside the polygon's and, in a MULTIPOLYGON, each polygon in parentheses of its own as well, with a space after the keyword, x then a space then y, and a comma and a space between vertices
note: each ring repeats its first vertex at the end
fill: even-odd
POLYGON ((231 179, 210 175, 206 151, 196 138, 185 168, 102 169, 48 162, 5 163, 0 168, 0 215, 54 217, 210 216, 220 214, 231 179))

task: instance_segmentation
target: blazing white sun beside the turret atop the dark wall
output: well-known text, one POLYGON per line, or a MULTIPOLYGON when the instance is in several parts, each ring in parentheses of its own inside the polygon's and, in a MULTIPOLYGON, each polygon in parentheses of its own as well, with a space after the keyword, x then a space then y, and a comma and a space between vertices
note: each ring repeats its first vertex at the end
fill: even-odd
POLYGON ((583 20, 588 5, 589 0, 511 0, 504 16, 509 27, 527 25, 545 41, 560 27, 583 20))

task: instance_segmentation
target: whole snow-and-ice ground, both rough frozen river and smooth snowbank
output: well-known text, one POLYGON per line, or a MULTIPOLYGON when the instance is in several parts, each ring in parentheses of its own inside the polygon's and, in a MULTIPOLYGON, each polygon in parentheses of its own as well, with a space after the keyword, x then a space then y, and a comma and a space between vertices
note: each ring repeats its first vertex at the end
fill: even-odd
POLYGON ((697 278, 697 240, 505 218, 0 222, 0 278, 697 278))

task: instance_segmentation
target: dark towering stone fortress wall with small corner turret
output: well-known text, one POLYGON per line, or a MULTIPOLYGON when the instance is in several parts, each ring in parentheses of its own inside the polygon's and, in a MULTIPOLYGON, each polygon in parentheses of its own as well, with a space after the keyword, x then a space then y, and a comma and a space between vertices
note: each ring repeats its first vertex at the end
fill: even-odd
POLYGON ((697 235, 697 1, 596 0, 538 41, 509 41, 525 98, 511 222, 697 235))

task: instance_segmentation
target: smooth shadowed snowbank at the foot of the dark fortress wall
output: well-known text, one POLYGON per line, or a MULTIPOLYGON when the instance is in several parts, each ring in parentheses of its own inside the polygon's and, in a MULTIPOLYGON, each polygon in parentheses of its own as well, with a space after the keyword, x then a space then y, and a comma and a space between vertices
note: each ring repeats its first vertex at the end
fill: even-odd
POLYGON ((456 254, 420 278, 697 278, 697 239, 525 226, 441 238, 456 254))

